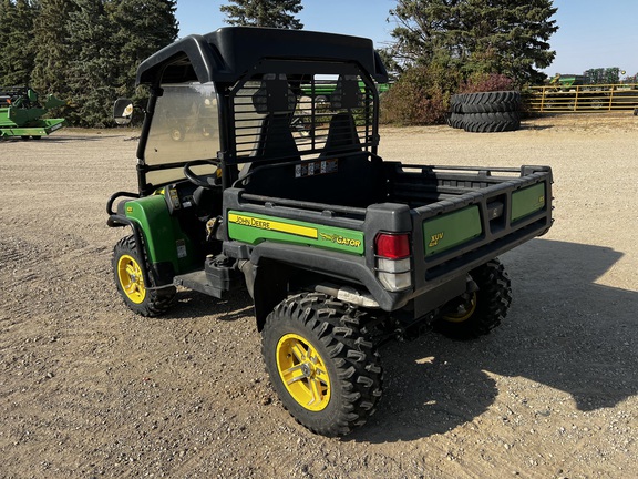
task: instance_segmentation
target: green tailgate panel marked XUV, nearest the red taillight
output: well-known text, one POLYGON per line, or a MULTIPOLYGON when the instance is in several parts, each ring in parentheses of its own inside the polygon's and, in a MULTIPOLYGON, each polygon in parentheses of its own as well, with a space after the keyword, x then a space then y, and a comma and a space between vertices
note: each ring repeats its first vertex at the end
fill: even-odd
POLYGON ((435 216, 423 222, 425 256, 466 243, 483 233, 478 206, 435 216))

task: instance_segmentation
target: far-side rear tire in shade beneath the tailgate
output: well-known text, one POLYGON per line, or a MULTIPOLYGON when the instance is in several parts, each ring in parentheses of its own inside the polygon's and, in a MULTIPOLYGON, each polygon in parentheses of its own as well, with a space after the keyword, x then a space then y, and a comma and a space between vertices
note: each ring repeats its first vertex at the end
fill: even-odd
POLYGON ((434 323, 434 330, 454 339, 475 339, 488 334, 507 316, 512 283, 498 259, 470 272, 478 289, 456 299, 456 310, 434 323))

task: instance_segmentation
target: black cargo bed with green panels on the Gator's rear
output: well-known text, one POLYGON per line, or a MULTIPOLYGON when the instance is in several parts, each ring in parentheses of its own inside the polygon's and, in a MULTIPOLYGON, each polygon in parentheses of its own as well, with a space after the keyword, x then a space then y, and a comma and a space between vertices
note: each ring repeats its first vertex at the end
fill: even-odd
MULTIPOLYGON (((271 257, 277 249, 274 244, 287 243, 286 256, 291 264, 326 274, 338 273, 342 278, 363 284, 381 308, 393 310, 454 278, 463 278, 464 272, 545 234, 552 225, 552 170, 548 166, 488 169, 384 162, 382 167, 377 167, 374 159, 371 160, 358 162, 360 179, 368 181, 350 182, 350 187, 340 185, 339 181, 339 172, 352 177, 346 165, 333 174, 310 179, 286 175, 286 170, 294 171, 295 165, 269 165, 268 177, 277 181, 264 183, 264 188, 253 181, 246 188, 228 188, 224 193, 230 240, 254 248, 253 261, 271 257), (306 180, 312 182, 311 188, 310 183, 303 183, 306 180), (294 186, 294 182, 299 181, 302 184, 294 186), (321 182, 326 182, 323 186, 321 182), (379 185, 384 185, 383 190, 379 190, 379 185), (265 194, 276 190, 298 192, 301 198, 265 194), (310 191, 317 198, 320 198, 318 192, 327 192, 341 202, 309 201, 310 191), (359 206, 362 197, 374 195, 375 202, 359 206), (351 204, 344 204, 347 197, 352 198, 351 204), (278 231, 269 224, 260 227, 260 222, 318 233, 305 236, 291 227, 278 231), (340 231, 342 243, 359 238, 360 247, 323 242, 322 237, 333 234, 325 232, 326 228, 340 231), (415 278, 411 292, 391 293, 374 279, 373 242, 380 231, 410 233, 415 278)), ((343 159, 340 161, 346 163, 343 159)), ((256 174, 254 180, 258 179, 256 174)), ((226 243, 230 256, 237 256, 234 243, 226 243)), ((429 303, 428 307, 431 306, 429 303)))

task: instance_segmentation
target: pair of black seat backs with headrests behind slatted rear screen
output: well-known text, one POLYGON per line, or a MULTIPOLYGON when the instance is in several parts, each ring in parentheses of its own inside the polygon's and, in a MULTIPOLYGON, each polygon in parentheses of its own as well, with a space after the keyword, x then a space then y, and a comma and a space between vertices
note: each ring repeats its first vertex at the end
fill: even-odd
POLYGON ((266 114, 255 160, 239 180, 247 193, 290 200, 366 207, 384 201, 380 160, 364 152, 351 113, 360 103, 356 78, 339 78, 323 151, 301 161, 290 120, 295 105, 282 78, 263 81, 254 94, 258 113, 266 114))

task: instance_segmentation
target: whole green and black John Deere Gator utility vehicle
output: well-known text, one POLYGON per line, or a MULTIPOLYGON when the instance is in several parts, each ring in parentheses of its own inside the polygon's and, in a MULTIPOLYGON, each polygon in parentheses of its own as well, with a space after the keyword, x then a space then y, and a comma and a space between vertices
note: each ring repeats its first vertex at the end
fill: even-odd
MULTIPOLYGON (((130 231, 113 254, 124 303, 155 316, 178 306, 178 288, 244 288, 282 404, 326 436, 377 409, 380 344, 496 327, 512 297, 497 256, 552 225, 548 166, 381 159, 387 81, 362 38, 237 27, 178 40, 137 70, 151 91, 138 191, 106 206, 107 224, 130 231), (176 118, 208 134, 176 142, 176 118)), ((126 123, 132 103, 114 113, 126 123)))

